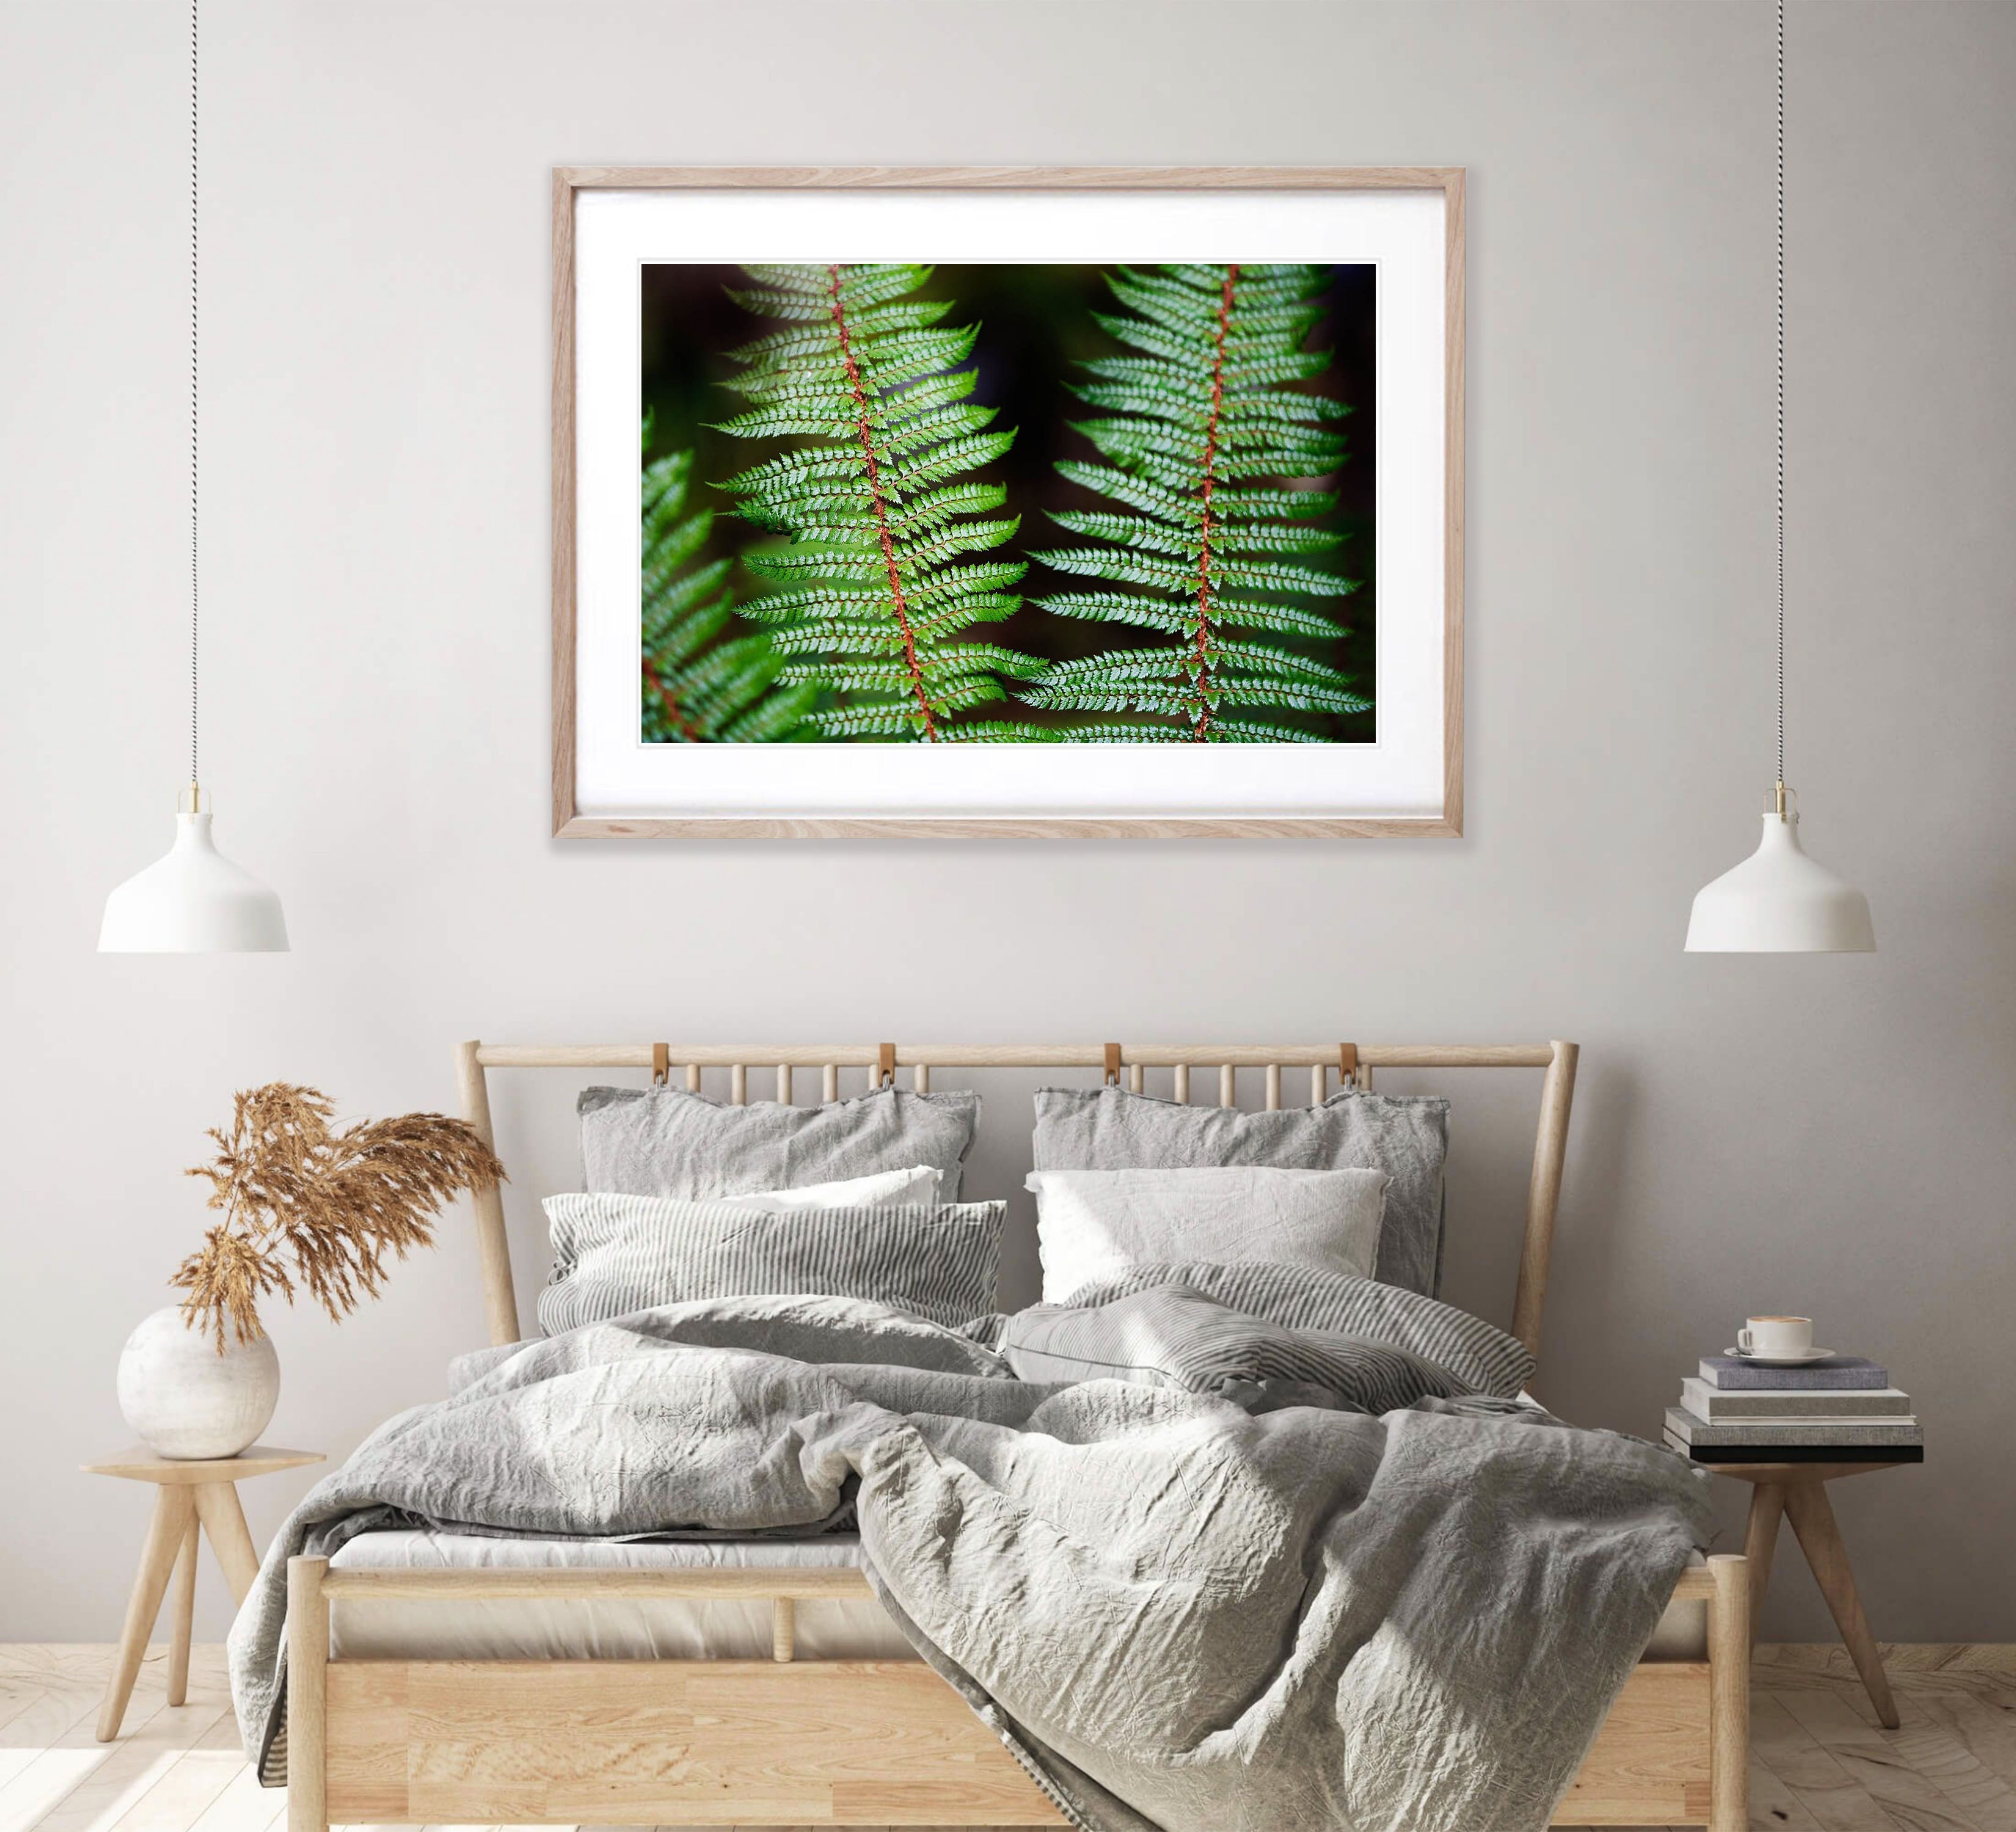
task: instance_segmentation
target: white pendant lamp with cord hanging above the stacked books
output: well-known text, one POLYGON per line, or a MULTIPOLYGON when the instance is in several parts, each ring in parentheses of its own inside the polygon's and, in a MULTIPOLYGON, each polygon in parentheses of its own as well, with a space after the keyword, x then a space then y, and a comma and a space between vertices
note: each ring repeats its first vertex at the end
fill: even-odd
POLYGON ((1778 784, 1764 838, 1695 893, 1687 953, 1873 953, 1869 899, 1798 844, 1784 786, 1784 0, 1778 0, 1778 784))

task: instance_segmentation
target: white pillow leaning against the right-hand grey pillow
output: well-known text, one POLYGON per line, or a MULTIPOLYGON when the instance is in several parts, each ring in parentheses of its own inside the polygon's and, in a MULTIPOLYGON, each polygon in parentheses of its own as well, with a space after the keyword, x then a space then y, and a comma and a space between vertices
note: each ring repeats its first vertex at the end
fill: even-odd
POLYGON ((1385 1171, 1032 1171, 1042 1302, 1157 1260, 1272 1260, 1371 1278, 1385 1171))

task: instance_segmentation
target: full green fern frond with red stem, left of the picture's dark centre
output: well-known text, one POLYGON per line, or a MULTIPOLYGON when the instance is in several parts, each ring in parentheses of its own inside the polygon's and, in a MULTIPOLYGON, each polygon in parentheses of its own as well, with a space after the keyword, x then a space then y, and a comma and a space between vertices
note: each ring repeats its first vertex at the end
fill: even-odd
MULTIPOLYGON (((978 324, 917 300, 923 266, 752 266, 732 298, 784 320, 732 353, 738 439, 798 439, 728 478, 738 514, 788 544, 744 554, 774 588, 742 607, 788 657, 780 683, 821 695, 825 738, 964 738, 958 715, 1042 663, 972 641, 1020 607, 998 484, 974 478, 1014 441, 970 401, 978 324), (839 697, 839 703, 833 699, 839 697)), ((1004 730, 1018 730, 1012 724, 1004 730)))

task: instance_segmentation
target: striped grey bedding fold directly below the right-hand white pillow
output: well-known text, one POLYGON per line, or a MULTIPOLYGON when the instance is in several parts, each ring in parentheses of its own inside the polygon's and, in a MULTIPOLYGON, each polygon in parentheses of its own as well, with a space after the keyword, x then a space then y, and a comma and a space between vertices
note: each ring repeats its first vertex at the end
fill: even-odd
POLYGON ((1454 1304, 1371 1278, 1276 1266, 1270 1260, 1135 1266, 1119 1278, 1077 1292, 1073 1308, 1111 1304, 1149 1286, 1187 1286, 1288 1330, 1383 1342, 1445 1368, 1470 1393, 1512 1399, 1534 1370, 1532 1356, 1516 1336, 1454 1304))

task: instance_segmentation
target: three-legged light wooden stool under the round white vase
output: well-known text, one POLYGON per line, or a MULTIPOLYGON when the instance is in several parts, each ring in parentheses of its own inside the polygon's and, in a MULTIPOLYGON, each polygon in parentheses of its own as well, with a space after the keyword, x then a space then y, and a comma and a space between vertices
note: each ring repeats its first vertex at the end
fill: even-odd
POLYGON ((256 1443, 236 1457, 208 1461, 157 1457, 145 1445, 133 1445, 123 1457, 85 1463, 93 1475, 123 1475, 127 1481, 155 1485, 153 1520, 147 1522, 139 1576, 133 1580, 125 1628, 119 1632, 119 1655, 105 1687, 105 1705, 99 1709, 101 1743, 119 1735, 119 1721, 125 1717, 127 1699, 133 1697, 133 1681, 139 1677, 139 1663, 147 1653, 147 1637, 161 1614, 169 1576, 175 1578, 175 1626, 167 1651, 167 1703, 179 1705, 190 1695, 190 1618, 196 1608, 198 1534, 208 1536, 210 1550, 224 1570, 224 1582, 232 1586, 232 1596, 244 1602, 252 1590, 252 1580, 258 1576, 258 1552, 252 1548, 244 1508, 238 1506, 238 1489, 232 1483, 246 1475, 300 1469, 321 1461, 321 1451, 280 1451, 256 1443))

